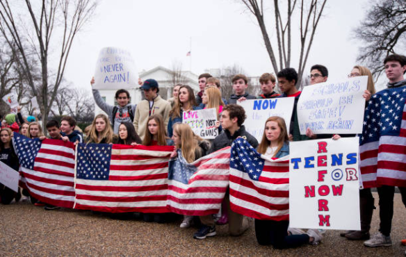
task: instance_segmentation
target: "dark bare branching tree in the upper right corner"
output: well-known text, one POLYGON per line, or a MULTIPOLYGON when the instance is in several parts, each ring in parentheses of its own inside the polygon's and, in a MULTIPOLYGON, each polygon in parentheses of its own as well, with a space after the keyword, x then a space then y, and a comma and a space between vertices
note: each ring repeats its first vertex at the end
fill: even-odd
POLYGON ((377 79, 384 70, 386 56, 406 48, 405 0, 375 1, 366 12, 364 21, 354 30, 361 40, 357 60, 366 65, 377 79))

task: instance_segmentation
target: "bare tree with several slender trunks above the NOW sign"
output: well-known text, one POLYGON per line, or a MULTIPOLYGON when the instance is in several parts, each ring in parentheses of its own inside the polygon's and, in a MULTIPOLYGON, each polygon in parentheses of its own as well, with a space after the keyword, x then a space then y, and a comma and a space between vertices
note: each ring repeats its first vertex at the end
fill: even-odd
POLYGON ((293 13, 295 9, 298 8, 297 0, 286 0, 282 1, 286 3, 285 12, 286 17, 282 17, 282 9, 284 6, 279 5, 279 0, 273 0, 273 13, 272 10, 269 11, 269 15, 275 17, 275 30, 272 34, 277 35, 277 43, 270 41, 268 31, 265 25, 265 13, 263 10, 268 10, 268 6, 264 6, 263 1, 257 0, 241 0, 245 7, 250 10, 250 13, 257 18, 259 28, 263 36, 263 41, 265 43, 266 51, 272 63, 275 74, 279 72, 280 69, 286 67, 291 67, 291 42, 300 41, 300 55, 299 55, 299 67, 298 67, 298 83, 302 80, 302 75, 304 68, 306 67, 307 57, 311 49, 311 43, 314 39, 314 34, 316 33, 316 28, 320 17, 323 13, 325 3, 327 0, 302 0, 300 4, 300 37, 298 40, 292 40, 292 24, 293 13))

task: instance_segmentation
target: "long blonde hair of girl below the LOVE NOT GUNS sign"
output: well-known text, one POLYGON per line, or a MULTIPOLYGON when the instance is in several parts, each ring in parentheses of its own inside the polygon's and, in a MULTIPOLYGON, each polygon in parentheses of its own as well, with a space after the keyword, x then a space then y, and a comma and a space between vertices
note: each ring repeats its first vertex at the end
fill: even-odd
POLYGON ((182 156, 184 156, 188 163, 192 163, 193 160, 195 160, 195 153, 197 156, 202 156, 202 149, 199 147, 199 143, 202 142, 203 139, 195 135, 188 124, 174 124, 173 132, 177 133, 181 139, 181 144, 176 147, 181 149, 182 156))

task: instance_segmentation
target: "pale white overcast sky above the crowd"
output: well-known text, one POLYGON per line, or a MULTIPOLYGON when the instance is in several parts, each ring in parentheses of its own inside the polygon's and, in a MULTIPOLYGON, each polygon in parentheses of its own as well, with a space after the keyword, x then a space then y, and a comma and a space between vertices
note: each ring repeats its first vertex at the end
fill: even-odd
MULTIPOLYGON (((284 1, 281 1, 284 2, 284 1)), ((346 77, 356 64, 359 42, 352 29, 364 17, 368 1, 327 1, 307 61, 307 73, 316 63, 327 66, 329 80, 346 77)), ((298 12, 298 10, 296 10, 298 12)), ((272 36, 274 18, 266 13, 272 36)), ((298 23, 293 28, 298 28, 298 23)), ((180 61, 192 72, 240 65, 249 76, 273 72, 259 26, 236 0, 100 1, 89 24, 76 37, 65 79, 88 86, 99 50, 122 47, 131 51, 138 71, 180 61)), ((297 68, 299 38, 293 33, 292 67, 297 68)))

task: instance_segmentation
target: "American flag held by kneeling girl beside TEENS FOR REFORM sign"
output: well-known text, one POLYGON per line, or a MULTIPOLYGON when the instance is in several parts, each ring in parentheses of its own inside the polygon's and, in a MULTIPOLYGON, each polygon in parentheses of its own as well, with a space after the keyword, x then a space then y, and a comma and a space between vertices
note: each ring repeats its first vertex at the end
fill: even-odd
POLYGON ((243 138, 232 144, 230 206, 255 219, 289 220, 289 156, 271 159, 243 138))

